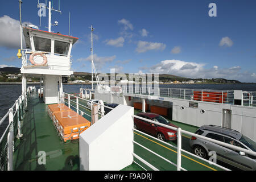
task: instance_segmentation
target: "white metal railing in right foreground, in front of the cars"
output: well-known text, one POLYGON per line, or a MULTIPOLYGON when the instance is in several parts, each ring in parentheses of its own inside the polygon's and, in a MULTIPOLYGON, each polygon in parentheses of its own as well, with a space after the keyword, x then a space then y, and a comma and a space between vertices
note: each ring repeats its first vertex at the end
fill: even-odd
MULTIPOLYGON (((220 141, 215 140, 215 139, 211 139, 211 138, 204 137, 204 136, 201 136, 201 135, 198 135, 198 134, 195 134, 195 133, 191 133, 191 132, 189 132, 189 131, 182 130, 181 128, 176 128, 176 127, 164 125, 164 124, 159 123, 159 122, 151 121, 150 119, 146 119, 146 118, 139 117, 138 115, 133 115, 133 118, 138 118, 138 119, 141 119, 141 120, 150 122, 150 123, 154 123, 155 125, 163 126, 163 127, 168 128, 168 129, 177 131, 177 147, 175 147, 175 146, 172 146, 171 144, 169 144, 169 143, 167 143, 167 142, 164 142, 164 141, 159 140, 159 139, 157 139, 157 138, 155 138, 155 137, 152 137, 151 135, 145 134, 145 133, 143 133, 143 132, 141 132, 141 131, 139 131, 139 130, 134 129, 135 131, 139 131, 140 133, 142 133, 143 135, 146 135, 147 137, 154 138, 154 139, 156 139, 156 140, 158 140, 158 141, 160 141, 160 142, 162 142, 162 143, 164 143, 164 144, 167 144, 167 145, 169 145, 169 146, 171 146, 171 147, 176 148, 176 150, 177 150, 177 164, 170 162, 170 160, 168 160, 168 159, 166 159, 166 158, 163 158, 162 156, 159 156, 158 154, 156 154, 154 151, 150 150, 149 148, 146 148, 146 147, 142 146, 141 144, 138 144, 137 142, 133 141, 135 144, 138 144, 139 146, 141 146, 141 147, 144 148, 145 150, 150 151, 152 154, 155 154, 155 155, 158 156, 159 158, 161 158, 161 159, 163 159, 163 160, 166 160, 166 162, 172 164, 173 166, 176 166, 177 171, 180 171, 180 170, 185 171, 185 170, 186 170, 186 169, 184 169, 183 167, 181 167, 181 152, 185 152, 186 154, 192 155, 192 156, 194 156, 195 158, 198 158, 198 159, 200 159, 200 160, 203 160, 204 162, 209 162, 209 160, 206 160, 206 159, 201 158, 201 157, 199 157, 199 156, 197 156, 197 155, 195 155, 195 154, 192 154, 191 152, 188 152, 188 151, 186 151, 186 150, 183 150, 183 149, 181 148, 181 134, 191 135, 192 137, 197 137, 197 138, 200 138, 200 139, 208 140, 209 142, 213 142, 213 143, 216 143, 216 144, 220 144, 221 146, 228 147, 228 148, 232 148, 233 150, 245 152, 246 154, 256 156, 256 152, 254 152, 254 151, 246 150, 245 148, 233 146, 232 144, 220 142, 220 141)), ((143 164, 145 164, 146 166, 150 167, 151 169, 153 169, 153 170, 158 170, 157 168, 155 168, 154 166, 152 166, 150 163, 146 162, 146 160, 142 159, 141 157, 138 158, 138 155, 134 155, 134 156, 135 156, 135 158, 137 158, 138 160, 140 160, 143 164)), ((230 169, 228 169, 228 168, 226 168, 226 167, 223 167, 223 166, 220 166, 219 164, 216 164, 216 163, 213 163, 213 162, 212 162, 211 164, 213 164, 214 166, 219 167, 219 168, 221 168, 221 169, 224 169, 224 170, 226 170, 226 171, 230 171, 230 169)))

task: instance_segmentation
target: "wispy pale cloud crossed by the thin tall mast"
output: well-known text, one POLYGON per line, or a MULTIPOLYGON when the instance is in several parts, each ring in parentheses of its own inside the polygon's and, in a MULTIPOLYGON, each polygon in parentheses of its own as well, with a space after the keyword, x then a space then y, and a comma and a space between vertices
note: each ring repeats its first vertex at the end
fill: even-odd
MULTIPOLYGON (((105 56, 105 57, 100 57, 97 56, 96 54, 93 55, 93 63, 96 67, 96 69, 101 69, 105 66, 106 63, 111 63, 114 59, 115 59, 115 55, 114 56, 105 56)), ((78 62, 82 62, 82 61, 91 61, 92 60, 92 55, 84 58, 81 57, 80 59, 77 59, 78 62)))

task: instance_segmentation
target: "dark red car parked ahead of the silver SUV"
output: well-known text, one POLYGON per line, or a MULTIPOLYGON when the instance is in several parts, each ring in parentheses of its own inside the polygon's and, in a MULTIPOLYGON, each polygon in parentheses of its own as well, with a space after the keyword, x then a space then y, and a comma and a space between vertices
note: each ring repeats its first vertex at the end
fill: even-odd
MULTIPOLYGON (((170 121, 165 119, 159 114, 155 113, 138 113, 136 114, 139 117, 150 119, 155 122, 163 123, 165 125, 173 126, 178 128, 177 126, 173 125, 170 121)), ((168 141, 168 140, 176 140, 177 139, 177 131, 168 129, 163 126, 155 125, 153 123, 144 121, 142 119, 138 119, 134 117, 134 129, 144 131, 145 133, 154 135, 156 138, 168 141)))

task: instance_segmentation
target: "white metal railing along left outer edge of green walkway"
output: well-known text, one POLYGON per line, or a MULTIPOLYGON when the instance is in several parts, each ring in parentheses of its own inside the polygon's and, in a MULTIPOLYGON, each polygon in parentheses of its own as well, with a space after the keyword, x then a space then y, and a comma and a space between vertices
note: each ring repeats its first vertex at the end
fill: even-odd
POLYGON ((21 125, 23 114, 27 106, 27 94, 35 92, 35 86, 29 86, 27 91, 19 96, 14 105, 7 111, 0 120, 0 126, 9 118, 9 125, 6 127, 0 138, 0 171, 13 170, 14 137, 22 137, 21 125))

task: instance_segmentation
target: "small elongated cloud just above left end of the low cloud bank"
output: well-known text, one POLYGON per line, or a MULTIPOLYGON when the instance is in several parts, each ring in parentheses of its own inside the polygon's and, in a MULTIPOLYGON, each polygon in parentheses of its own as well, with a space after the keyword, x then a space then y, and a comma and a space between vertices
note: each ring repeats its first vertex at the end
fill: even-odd
POLYGON ((157 42, 145 42, 139 41, 137 44, 136 52, 142 53, 150 50, 160 50, 163 51, 166 48, 166 44, 157 42))

